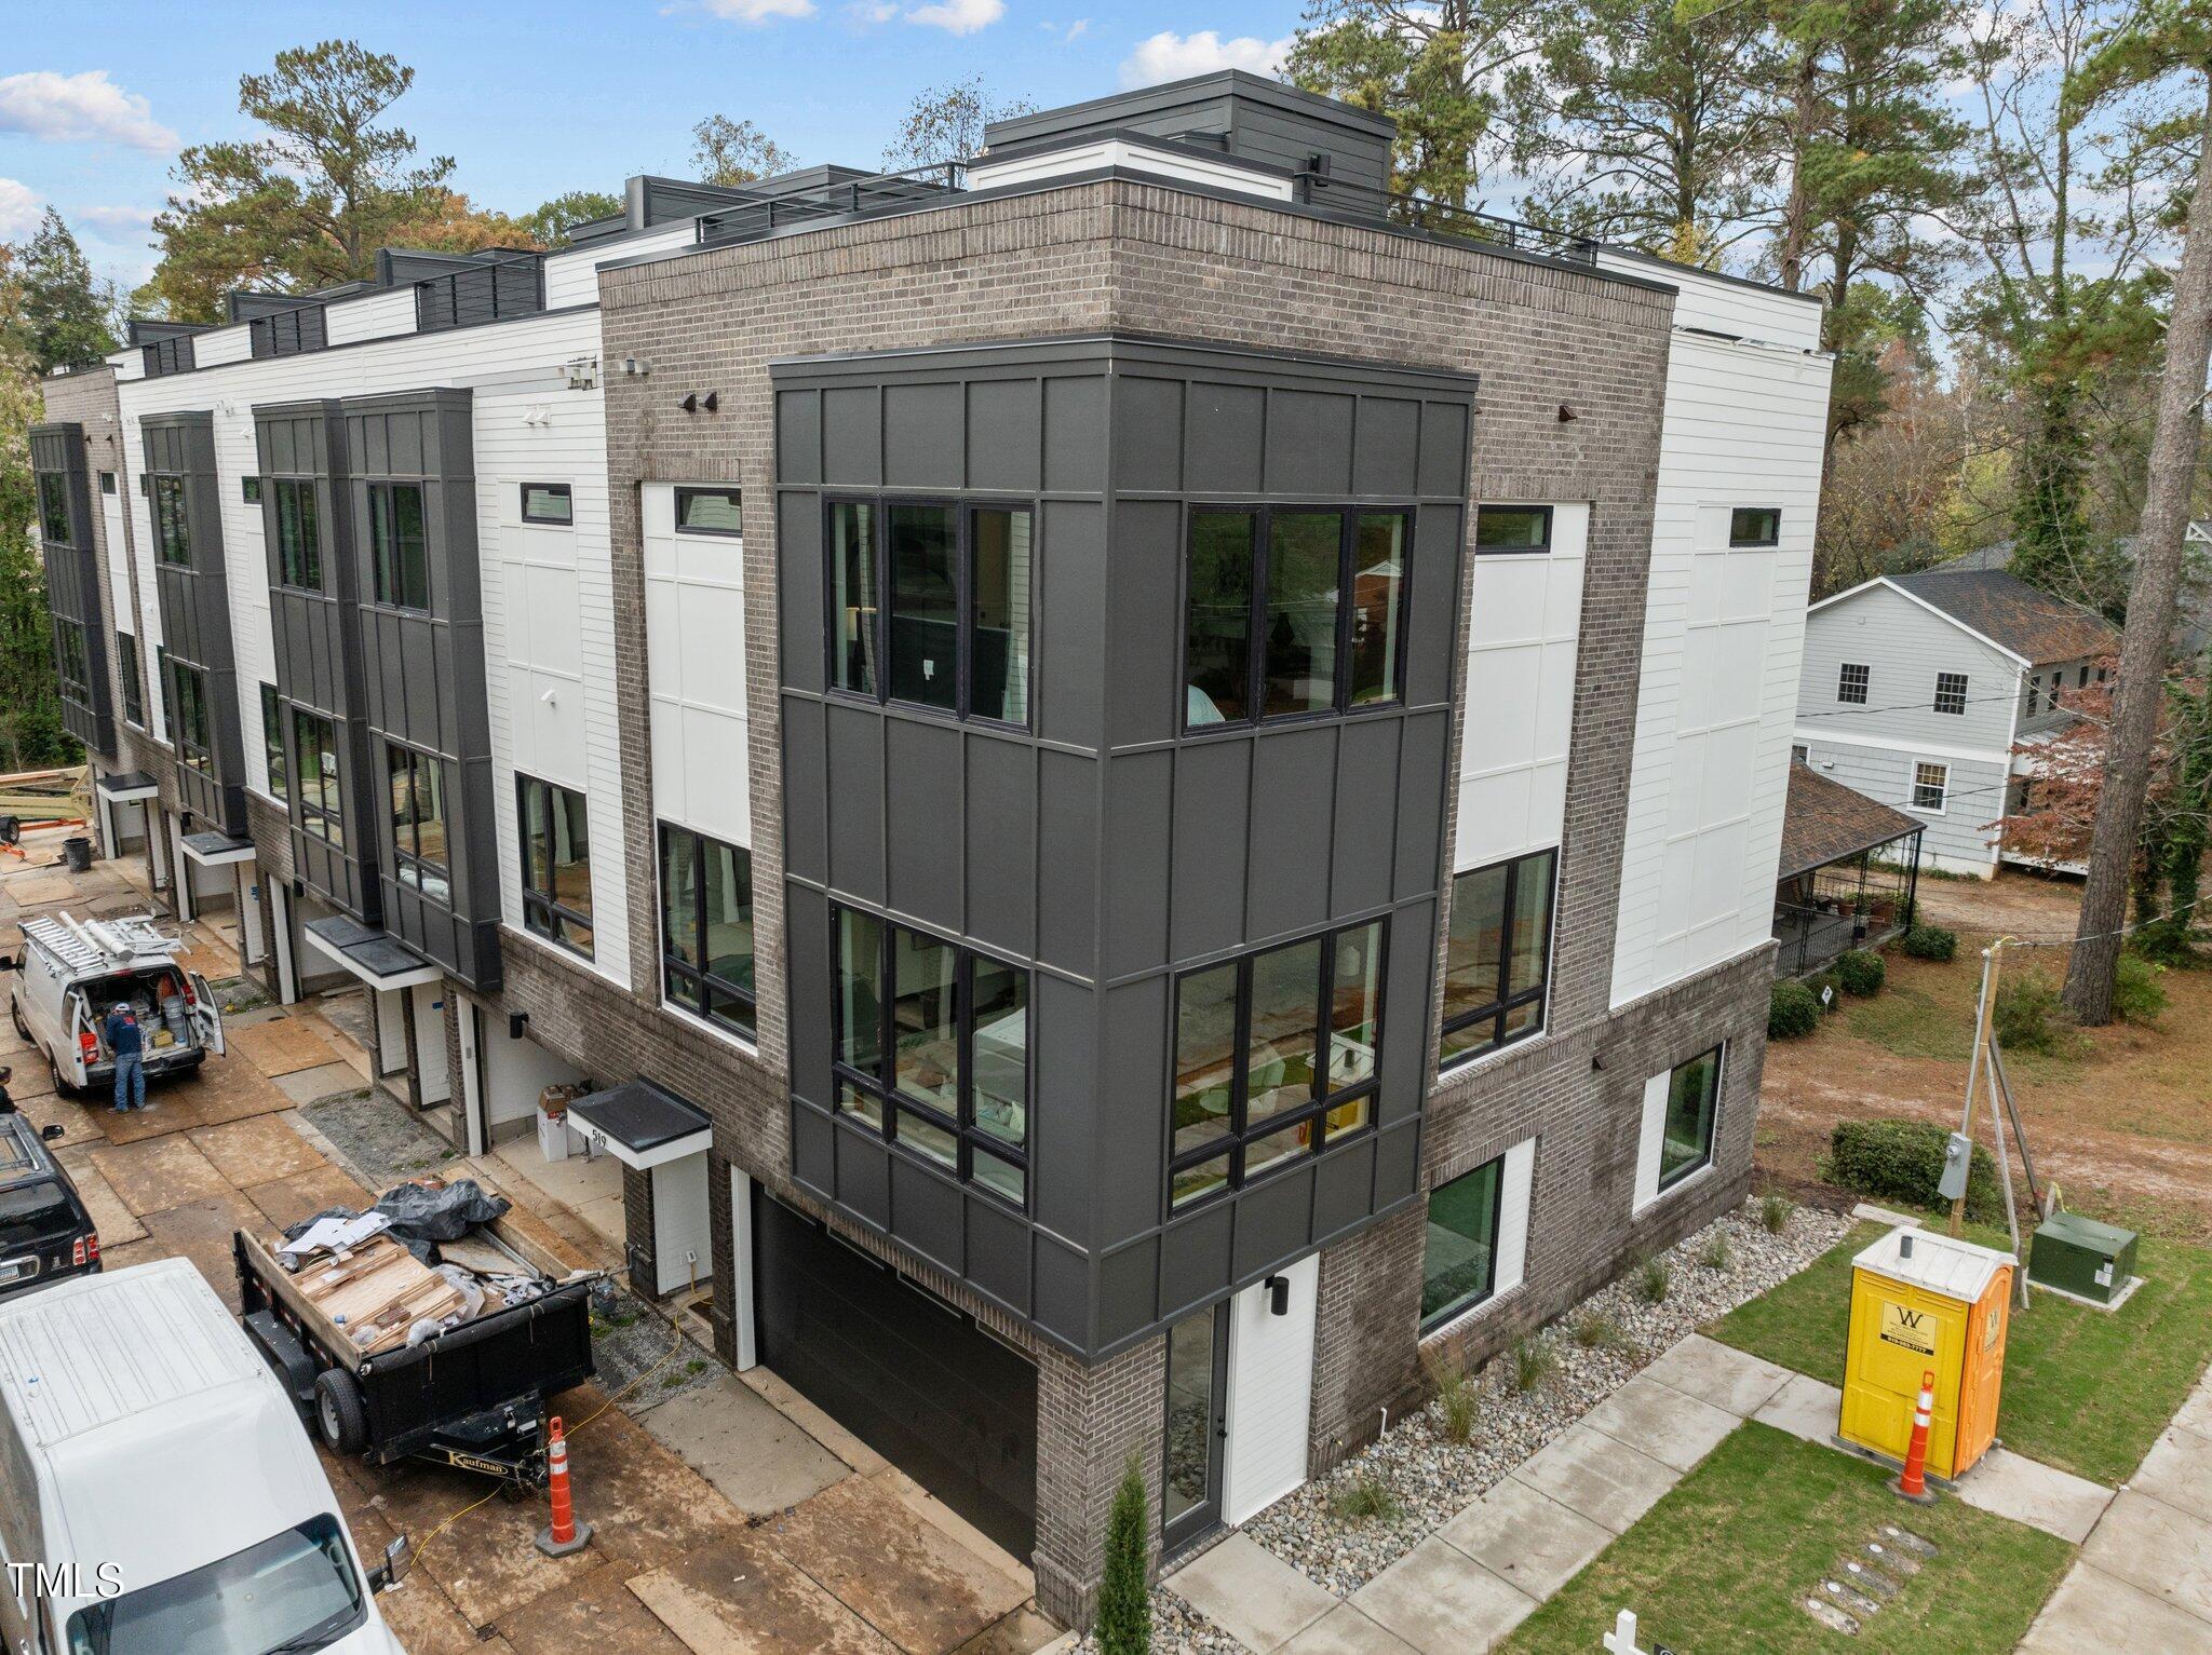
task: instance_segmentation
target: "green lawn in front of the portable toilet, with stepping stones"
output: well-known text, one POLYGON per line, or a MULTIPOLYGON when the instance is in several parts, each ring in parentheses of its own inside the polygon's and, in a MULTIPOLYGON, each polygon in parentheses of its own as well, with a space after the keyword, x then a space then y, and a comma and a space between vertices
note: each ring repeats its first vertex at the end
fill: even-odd
POLYGON ((1885 1478, 1832 1447, 1741 1425, 1495 1648, 1588 1655, 1613 1617, 1635 1609, 1646 1648, 1697 1655, 2011 1651, 2075 1549, 1958 1500, 1909 1507, 1885 1478), (1865 1620, 1858 1637, 1816 1624, 1803 1600, 1885 1522, 1933 1540, 1938 1556, 1865 1620))

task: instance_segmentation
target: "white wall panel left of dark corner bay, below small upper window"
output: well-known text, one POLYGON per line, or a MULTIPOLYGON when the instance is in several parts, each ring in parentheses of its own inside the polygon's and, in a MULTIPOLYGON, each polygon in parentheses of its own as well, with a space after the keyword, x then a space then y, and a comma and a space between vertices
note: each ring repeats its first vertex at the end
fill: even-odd
POLYGON ((653 811, 723 844, 752 848, 745 544, 726 535, 675 533, 675 484, 646 484, 639 517, 653 687, 653 811))

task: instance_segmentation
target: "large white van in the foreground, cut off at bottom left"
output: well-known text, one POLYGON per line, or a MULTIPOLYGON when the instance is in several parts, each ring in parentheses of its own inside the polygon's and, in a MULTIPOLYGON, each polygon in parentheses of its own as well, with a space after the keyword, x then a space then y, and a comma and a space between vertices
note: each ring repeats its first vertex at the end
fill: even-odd
POLYGON ((0 1304, 7 1655, 405 1655, 299 1412, 188 1259, 0 1304))

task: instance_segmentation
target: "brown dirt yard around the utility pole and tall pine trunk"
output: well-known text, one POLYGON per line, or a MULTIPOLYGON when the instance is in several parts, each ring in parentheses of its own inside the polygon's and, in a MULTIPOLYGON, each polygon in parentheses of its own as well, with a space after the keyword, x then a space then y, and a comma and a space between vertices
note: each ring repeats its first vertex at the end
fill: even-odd
MULTIPOLYGON (((1958 959, 1889 952, 1889 983, 1847 999, 1805 1041, 1767 1050, 1759 1169, 1807 1198, 1836 1200, 1818 1162, 1845 1118, 1958 1122, 1973 1045, 1982 946, 2073 932, 2079 884, 2006 873, 1991 884, 1922 879, 1922 913, 1960 932, 1958 959)), ((2004 950, 2004 972, 2064 981, 2066 948, 2004 950)), ((2066 1204, 2185 1240, 2212 1240, 2212 968, 2166 972, 2157 1023, 2066 1030, 2055 1054, 2006 1054, 2035 1169, 2066 1204)), ((1989 1114, 1978 1114, 1989 1142, 1989 1114)))

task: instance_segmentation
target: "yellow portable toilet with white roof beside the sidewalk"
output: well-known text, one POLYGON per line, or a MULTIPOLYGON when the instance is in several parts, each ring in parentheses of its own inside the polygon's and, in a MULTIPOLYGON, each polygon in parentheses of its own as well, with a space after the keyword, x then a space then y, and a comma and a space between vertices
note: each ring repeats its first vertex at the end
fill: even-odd
POLYGON ((1851 1259, 1851 1335, 1836 1434, 1905 1463, 1920 1377, 1936 1372, 1929 1476, 1958 1478, 1997 1436, 2017 1259, 1900 1229, 1851 1259))

